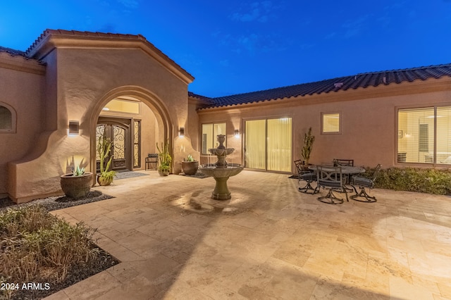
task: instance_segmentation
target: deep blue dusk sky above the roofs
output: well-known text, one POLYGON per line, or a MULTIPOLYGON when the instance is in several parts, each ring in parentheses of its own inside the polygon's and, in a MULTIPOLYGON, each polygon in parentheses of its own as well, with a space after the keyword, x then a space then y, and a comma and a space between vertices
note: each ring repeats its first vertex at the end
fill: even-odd
POLYGON ((451 0, 1 2, 0 46, 47 28, 140 34, 210 97, 451 63, 451 0))

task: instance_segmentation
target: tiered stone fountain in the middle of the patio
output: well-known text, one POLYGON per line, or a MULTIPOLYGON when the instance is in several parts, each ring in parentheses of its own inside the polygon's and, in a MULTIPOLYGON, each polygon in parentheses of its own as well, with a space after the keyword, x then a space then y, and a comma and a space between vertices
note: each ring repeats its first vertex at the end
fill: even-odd
POLYGON ((226 148, 224 142, 226 141, 225 135, 218 135, 218 148, 209 149, 209 152, 218 157, 218 161, 214 164, 201 165, 199 170, 205 175, 214 177, 216 185, 214 191, 211 193, 211 199, 215 200, 228 200, 232 196, 227 187, 227 180, 230 176, 235 176, 242 171, 244 165, 237 163, 227 163, 226 156, 232 154, 235 149, 226 148))

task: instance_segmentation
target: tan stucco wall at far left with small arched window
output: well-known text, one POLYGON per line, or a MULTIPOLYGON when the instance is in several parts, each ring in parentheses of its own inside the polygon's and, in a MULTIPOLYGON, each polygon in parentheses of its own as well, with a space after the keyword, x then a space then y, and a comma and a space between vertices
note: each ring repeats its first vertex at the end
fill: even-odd
POLYGON ((0 105, 16 114, 16 130, 0 132, 0 196, 6 196, 8 162, 16 161, 37 148, 43 130, 44 72, 37 61, 0 54, 0 105))

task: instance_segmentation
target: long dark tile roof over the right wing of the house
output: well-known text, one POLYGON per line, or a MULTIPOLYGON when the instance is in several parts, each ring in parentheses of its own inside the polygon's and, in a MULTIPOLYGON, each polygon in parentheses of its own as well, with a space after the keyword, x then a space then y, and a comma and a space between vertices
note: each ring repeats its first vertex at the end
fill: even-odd
POLYGON ((313 94, 325 94, 338 92, 340 90, 346 91, 347 89, 358 89, 360 87, 377 87, 378 85, 390 85, 391 83, 399 84, 406 81, 427 80, 428 78, 438 79, 443 76, 451 77, 451 63, 402 70, 359 73, 357 75, 303 83, 301 85, 291 85, 288 87, 278 87, 276 89, 266 89, 258 92, 209 98, 213 104, 204 106, 200 109, 250 104, 261 101, 274 101, 313 94))

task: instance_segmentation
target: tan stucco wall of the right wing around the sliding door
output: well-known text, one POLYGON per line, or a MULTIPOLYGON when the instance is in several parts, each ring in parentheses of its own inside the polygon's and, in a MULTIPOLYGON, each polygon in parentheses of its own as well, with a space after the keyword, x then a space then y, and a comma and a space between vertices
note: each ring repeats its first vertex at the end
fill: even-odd
POLYGON ((199 123, 226 122, 228 146, 236 149, 235 156, 240 156, 240 163, 244 163, 244 139, 241 136, 237 141, 233 137, 234 129, 245 133, 245 120, 290 117, 293 161, 302 158, 304 132, 312 127, 316 139, 310 163, 331 163, 333 158, 343 158, 354 159, 355 165, 381 163, 388 168, 398 165, 397 108, 434 105, 451 105, 451 78, 206 109, 199 111, 199 123), (321 134, 321 113, 337 112, 342 119, 341 134, 321 134))

